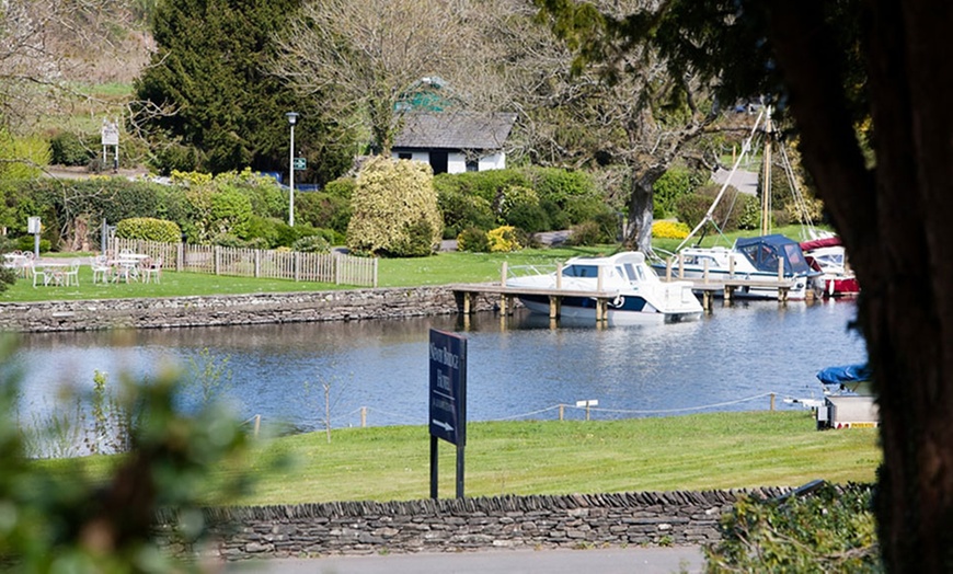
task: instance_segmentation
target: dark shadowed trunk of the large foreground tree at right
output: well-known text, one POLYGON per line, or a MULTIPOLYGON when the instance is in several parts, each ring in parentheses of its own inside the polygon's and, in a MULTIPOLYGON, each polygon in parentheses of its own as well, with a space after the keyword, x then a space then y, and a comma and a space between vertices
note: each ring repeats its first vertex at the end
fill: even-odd
POLYGON ((850 252, 879 389, 876 515, 892 572, 953 569, 953 60, 949 0, 871 0, 876 128, 866 169, 847 113, 823 0, 772 3, 771 39, 804 163, 850 252))

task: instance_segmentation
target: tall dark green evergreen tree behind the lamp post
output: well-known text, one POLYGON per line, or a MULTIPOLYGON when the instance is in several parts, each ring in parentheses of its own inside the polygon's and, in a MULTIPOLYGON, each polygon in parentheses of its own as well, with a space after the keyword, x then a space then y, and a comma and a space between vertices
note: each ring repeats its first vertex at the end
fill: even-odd
POLYGON ((326 181, 349 167, 351 138, 318 120, 320 99, 298 99, 262 62, 300 0, 160 0, 153 36, 159 47, 136 82, 142 120, 158 141, 198 153, 210 172, 251 167, 288 169, 286 112, 300 114, 296 156, 311 172, 298 181, 326 181), (320 165, 319 165, 320 163, 320 165), (317 168, 317 169, 315 169, 317 168))

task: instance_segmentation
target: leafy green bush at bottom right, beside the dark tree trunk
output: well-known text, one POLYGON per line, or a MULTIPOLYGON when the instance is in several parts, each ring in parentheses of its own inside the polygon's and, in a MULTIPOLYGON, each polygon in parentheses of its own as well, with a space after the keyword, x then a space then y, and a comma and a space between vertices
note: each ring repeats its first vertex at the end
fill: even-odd
POLYGON ((708 572, 883 572, 870 487, 824 484, 803 497, 744 498, 705 549, 708 572))

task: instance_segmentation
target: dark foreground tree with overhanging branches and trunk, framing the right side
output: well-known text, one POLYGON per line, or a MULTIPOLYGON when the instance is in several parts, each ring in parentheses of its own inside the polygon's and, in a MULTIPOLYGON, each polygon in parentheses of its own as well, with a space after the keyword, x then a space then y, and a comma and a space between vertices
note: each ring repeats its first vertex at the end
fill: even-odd
POLYGON ((942 0, 676 0, 621 18, 537 0, 579 61, 651 45, 723 101, 765 96, 804 165, 862 294, 882 422, 876 514, 895 572, 953 564, 953 62, 942 0))

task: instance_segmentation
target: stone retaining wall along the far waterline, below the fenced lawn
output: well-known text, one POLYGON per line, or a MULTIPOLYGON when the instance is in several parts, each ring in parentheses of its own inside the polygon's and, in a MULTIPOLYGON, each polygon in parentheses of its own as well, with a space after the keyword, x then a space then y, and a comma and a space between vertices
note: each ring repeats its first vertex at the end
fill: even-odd
MULTIPOLYGON (((478 297, 475 310, 496 301, 478 297)), ((456 313, 448 287, 0 303, 7 332, 165 329, 349 321, 456 313)))

